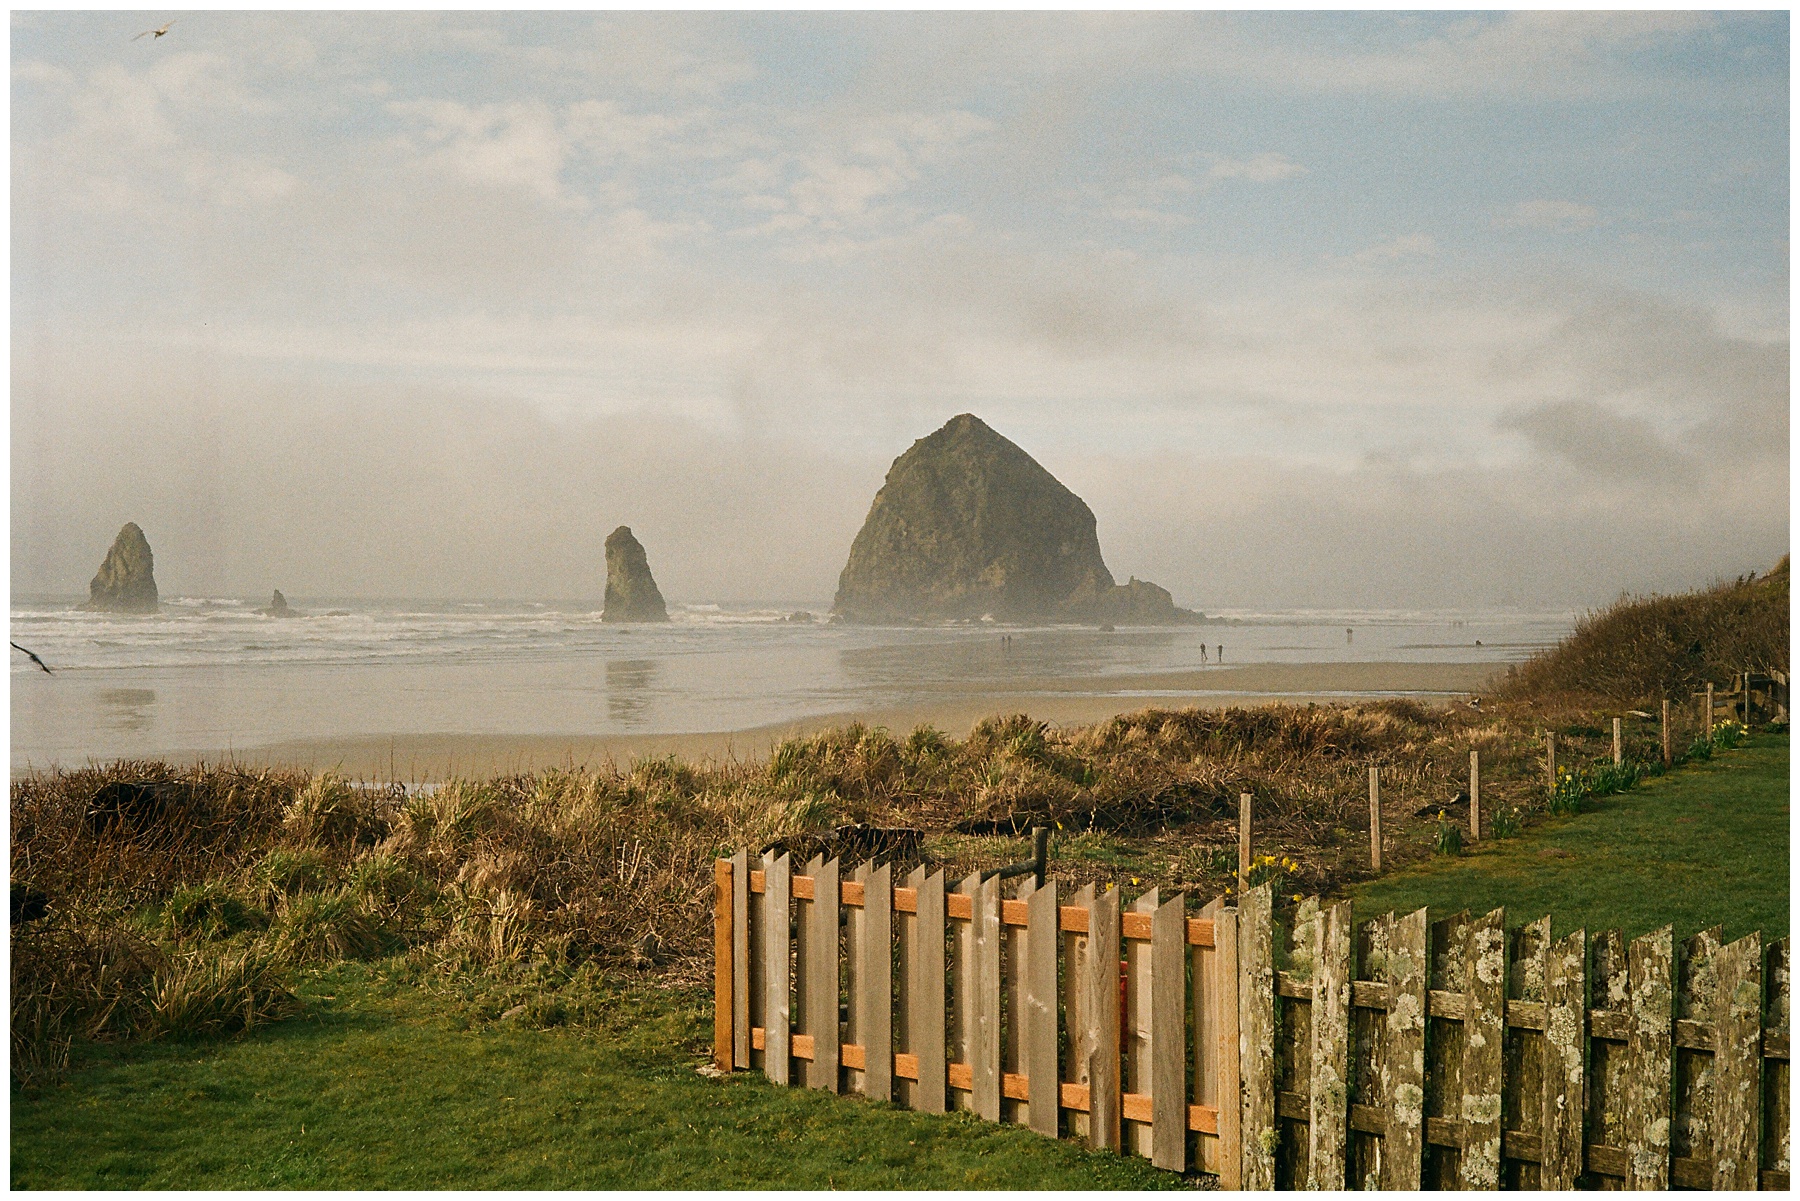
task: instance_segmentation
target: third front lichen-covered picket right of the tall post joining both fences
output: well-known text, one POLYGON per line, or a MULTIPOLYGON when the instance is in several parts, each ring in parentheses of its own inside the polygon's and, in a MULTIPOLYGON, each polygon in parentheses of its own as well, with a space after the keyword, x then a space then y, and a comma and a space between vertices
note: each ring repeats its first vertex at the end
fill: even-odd
POLYGON ((1499 1188, 1499 1073, 1507 1032, 1507 913, 1469 926, 1463 960, 1463 1188, 1499 1188))

